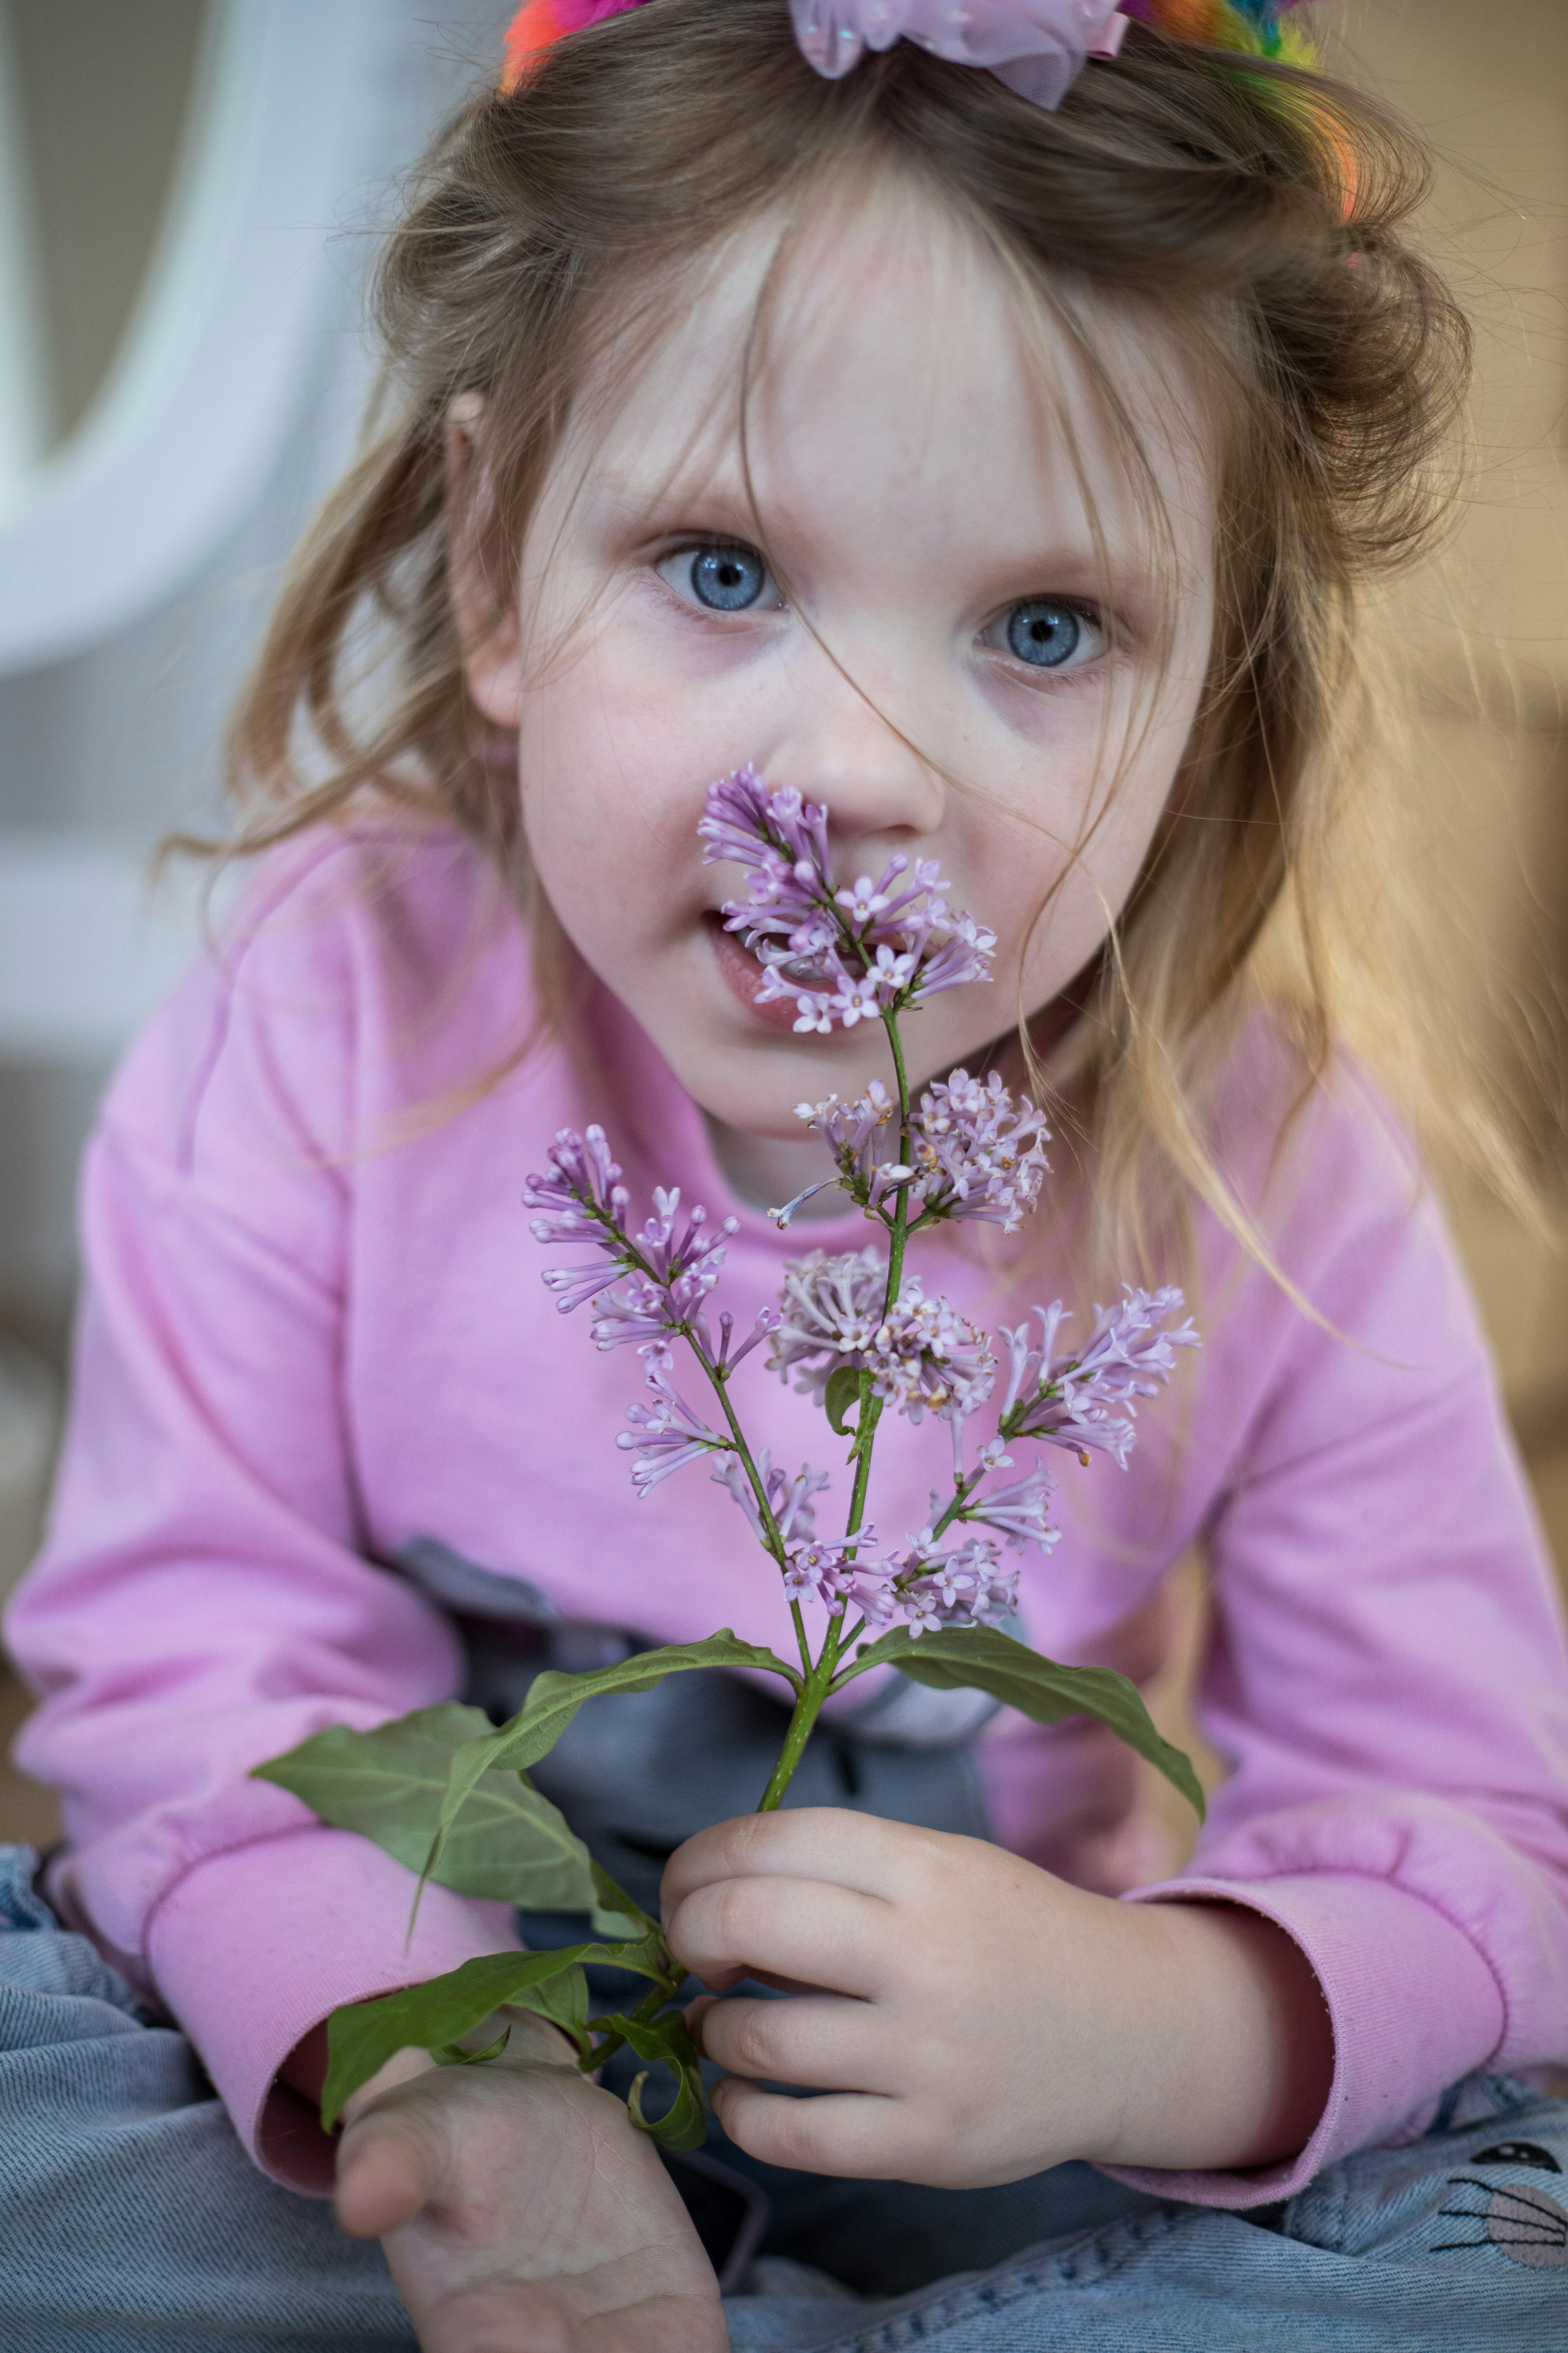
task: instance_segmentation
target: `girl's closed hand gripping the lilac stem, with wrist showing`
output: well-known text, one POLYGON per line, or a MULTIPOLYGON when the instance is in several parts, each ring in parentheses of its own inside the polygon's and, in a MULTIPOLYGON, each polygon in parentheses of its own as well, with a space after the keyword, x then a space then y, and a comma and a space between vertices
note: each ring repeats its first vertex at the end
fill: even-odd
POLYGON ((1004 1847, 825 1807, 686 1840, 665 1934, 715 2108, 771 2165, 971 2188, 1093 2158, 1293 2155, 1333 2075, 1307 1960, 1229 1904, 1117 1904, 1004 1847), (790 2099, 759 2080, 820 2089, 790 2099))

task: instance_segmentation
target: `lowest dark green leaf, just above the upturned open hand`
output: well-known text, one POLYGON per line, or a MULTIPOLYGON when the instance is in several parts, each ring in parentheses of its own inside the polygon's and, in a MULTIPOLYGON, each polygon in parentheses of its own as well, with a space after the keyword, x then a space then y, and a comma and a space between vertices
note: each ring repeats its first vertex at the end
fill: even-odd
POLYGON ((336 2125, 343 2101, 395 2052, 451 2049, 482 2026, 491 2009, 531 2009, 569 2035, 583 2057, 588 2038, 588 1965, 632 1969, 661 1981, 668 1977, 668 1953, 658 1932, 635 1944, 569 1944, 559 1953, 482 1953, 447 1977, 423 1986, 383 1993, 369 2002, 346 2002, 327 2021, 327 2082, 322 2085, 322 2125, 336 2125))

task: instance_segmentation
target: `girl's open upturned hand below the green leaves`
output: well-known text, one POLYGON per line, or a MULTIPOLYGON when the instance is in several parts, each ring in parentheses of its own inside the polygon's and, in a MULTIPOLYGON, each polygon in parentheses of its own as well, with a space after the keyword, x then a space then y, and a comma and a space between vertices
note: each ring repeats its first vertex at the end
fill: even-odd
POLYGON ((346 2111, 339 2221, 383 2242, 423 2353, 726 2353, 654 2144, 552 2026, 510 2024, 505 2057, 400 2052, 346 2111))

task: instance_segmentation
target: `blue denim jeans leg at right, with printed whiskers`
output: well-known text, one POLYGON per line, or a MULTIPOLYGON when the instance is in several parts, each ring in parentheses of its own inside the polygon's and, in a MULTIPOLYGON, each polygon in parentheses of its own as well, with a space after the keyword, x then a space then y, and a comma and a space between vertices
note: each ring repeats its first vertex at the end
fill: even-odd
POLYGON ((879 2304, 757 2273, 769 2292, 729 2304, 736 2353, 1563 2353, 1568 2101, 1469 2078, 1420 2141, 1253 2221, 1143 2200, 879 2304))

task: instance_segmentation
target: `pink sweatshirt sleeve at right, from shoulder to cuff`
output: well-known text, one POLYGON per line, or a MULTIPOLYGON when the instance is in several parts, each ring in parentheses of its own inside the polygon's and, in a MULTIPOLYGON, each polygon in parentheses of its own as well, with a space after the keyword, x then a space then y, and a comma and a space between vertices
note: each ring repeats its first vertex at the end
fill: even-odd
POLYGON ((1331 1120, 1286 1235, 1347 1337, 1262 1292, 1232 1318, 1258 1409, 1208 1525, 1199 1689, 1232 1772, 1190 1871, 1135 1894, 1276 1920, 1333 2021, 1333 2089, 1295 2160, 1121 2172, 1206 2205, 1293 2195, 1474 2068, 1568 2059, 1556 1581, 1443 1221, 1375 1155, 1331 1120))

